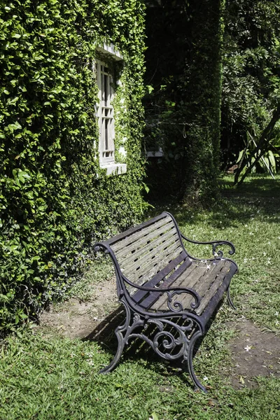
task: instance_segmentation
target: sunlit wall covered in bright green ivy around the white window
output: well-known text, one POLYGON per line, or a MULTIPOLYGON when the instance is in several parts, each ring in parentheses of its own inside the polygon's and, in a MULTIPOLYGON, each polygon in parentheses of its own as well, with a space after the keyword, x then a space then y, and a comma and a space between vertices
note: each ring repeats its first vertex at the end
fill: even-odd
POLYGON ((63 295, 92 241, 141 217, 143 3, 1 2, 2 332, 63 295), (92 64, 104 42, 124 59, 115 116, 127 173, 118 176, 99 168, 92 64))

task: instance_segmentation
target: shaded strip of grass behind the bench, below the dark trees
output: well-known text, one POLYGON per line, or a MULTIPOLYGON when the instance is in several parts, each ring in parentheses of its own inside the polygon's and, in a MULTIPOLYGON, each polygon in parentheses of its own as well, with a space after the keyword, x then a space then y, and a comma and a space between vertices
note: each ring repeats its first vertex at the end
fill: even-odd
MULTIPOLYGON (((255 176, 246 180, 239 188, 232 188, 233 177, 221 180, 221 198, 206 208, 170 202, 154 202, 149 216, 162 211, 172 213, 179 226, 203 223, 206 226, 221 228, 239 228, 252 217, 267 217, 267 223, 274 221, 272 216, 280 209, 280 176, 276 179, 255 176)), ((187 235, 188 236, 188 235, 187 235)), ((203 240, 203 238, 201 238, 203 240)))

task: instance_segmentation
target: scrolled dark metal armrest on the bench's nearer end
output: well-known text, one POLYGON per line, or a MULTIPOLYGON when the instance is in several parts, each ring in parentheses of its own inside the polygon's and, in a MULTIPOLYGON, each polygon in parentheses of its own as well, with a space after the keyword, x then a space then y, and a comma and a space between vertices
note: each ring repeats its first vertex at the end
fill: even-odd
POLYGON ((127 279, 125 276, 123 276, 123 280, 125 281, 125 283, 129 284, 133 288, 137 288, 138 290, 144 290, 146 292, 160 293, 160 294, 167 293, 167 297, 168 297, 167 305, 172 312, 183 311, 183 305, 181 304, 181 302, 179 302, 177 300, 172 302, 172 300, 174 299, 174 296, 175 295, 181 295, 181 293, 188 293, 189 295, 191 295, 195 299, 195 302, 192 302, 190 304, 190 306, 193 309, 196 309, 197 307, 200 306, 201 297, 192 288, 188 288, 188 287, 161 287, 161 286, 159 286, 159 287, 147 287, 147 286, 139 286, 138 284, 133 283, 132 281, 127 279), (173 307, 172 307, 172 305, 173 305, 173 307))

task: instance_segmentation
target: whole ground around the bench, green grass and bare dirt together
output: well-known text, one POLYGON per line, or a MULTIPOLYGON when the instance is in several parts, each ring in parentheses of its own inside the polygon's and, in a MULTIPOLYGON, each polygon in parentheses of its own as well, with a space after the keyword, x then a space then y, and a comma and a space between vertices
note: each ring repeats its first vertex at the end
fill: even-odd
POLYGON ((210 210, 165 204, 146 215, 168 210, 190 238, 236 246, 237 310, 222 302, 194 359, 207 394, 145 346, 132 344, 116 370, 98 374, 116 350, 104 321, 118 302, 110 262, 89 260, 68 301, 1 343, 1 419, 279 419, 280 176, 250 176, 239 189, 232 176, 220 183, 210 210))

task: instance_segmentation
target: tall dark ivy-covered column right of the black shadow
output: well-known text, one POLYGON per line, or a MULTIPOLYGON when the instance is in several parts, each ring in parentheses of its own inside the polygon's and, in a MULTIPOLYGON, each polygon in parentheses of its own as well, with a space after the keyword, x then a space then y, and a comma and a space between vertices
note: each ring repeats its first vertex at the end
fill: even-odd
POLYGON ((222 6, 223 0, 196 3, 184 92, 188 131, 183 194, 202 198, 208 204, 218 192, 220 166, 222 6))

